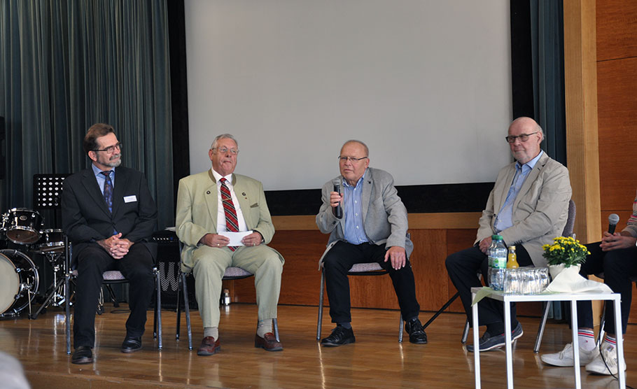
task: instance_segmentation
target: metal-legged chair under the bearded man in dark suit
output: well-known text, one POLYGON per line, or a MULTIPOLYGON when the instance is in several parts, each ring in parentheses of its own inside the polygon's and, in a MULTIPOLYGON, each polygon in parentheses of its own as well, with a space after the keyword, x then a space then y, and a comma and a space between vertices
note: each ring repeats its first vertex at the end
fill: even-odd
MULTIPOLYGON (((77 276, 77 270, 71 269, 71 247, 69 246, 69 238, 64 236, 64 313, 65 313, 65 332, 66 332, 66 354, 71 354, 71 279, 77 276)), ((155 314, 153 320, 153 339, 158 339, 158 349, 162 349, 162 295, 160 274, 157 266, 153 267, 153 274, 155 275, 155 292, 157 295, 157 301, 155 302, 155 314)), ((120 271, 109 270, 104 271, 104 285, 111 285, 115 283, 127 283, 129 282, 120 271)))

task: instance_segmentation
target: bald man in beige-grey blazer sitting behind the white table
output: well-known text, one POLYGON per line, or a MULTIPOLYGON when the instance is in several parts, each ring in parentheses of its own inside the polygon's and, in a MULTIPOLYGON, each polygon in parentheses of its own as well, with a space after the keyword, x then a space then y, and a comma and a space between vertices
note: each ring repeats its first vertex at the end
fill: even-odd
MULTIPOLYGON (((566 225, 571 194, 568 170, 540 149, 542 139, 544 132, 535 120, 517 118, 511 123, 506 140, 516 162, 498 173, 479 220, 474 246, 449 255, 445 262, 449 278, 460 292, 469 323, 472 323, 471 288, 482 285, 478 271, 487 279, 486 250, 491 245, 491 235, 499 234, 507 246, 515 246, 520 266, 543 267, 546 260, 542 257, 542 245, 552 243, 566 225)), ((478 303, 478 311, 479 324, 486 325, 479 351, 504 346, 503 304, 483 299, 478 303)), ((514 306, 511 328, 513 339, 522 336, 514 306)), ((473 351, 473 346, 467 349, 473 351)))

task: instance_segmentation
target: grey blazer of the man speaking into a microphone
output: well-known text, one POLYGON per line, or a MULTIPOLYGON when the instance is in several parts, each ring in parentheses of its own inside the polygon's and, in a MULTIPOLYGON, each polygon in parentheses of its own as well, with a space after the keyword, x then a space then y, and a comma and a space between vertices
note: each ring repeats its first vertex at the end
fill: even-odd
MULTIPOLYGON (((342 181, 343 177, 336 179, 342 181)), ((321 191, 321 209, 316 215, 316 225, 323 234, 330 234, 328 248, 325 253, 334 246, 337 241, 344 241, 345 218, 337 219, 332 214, 330 206, 330 192, 332 181, 323 185, 321 191)), ((398 192, 393 185, 393 177, 386 171, 371 167, 365 171, 363 178, 363 194, 361 206, 363 208, 363 228, 370 243, 385 245, 385 248, 399 246, 405 248, 407 257, 412 254, 414 244, 407 237, 407 208, 400 201, 398 192)), ((323 256, 325 256, 323 253, 323 256)), ((323 260, 321 257, 321 261, 323 260)), ((319 261, 319 263, 321 263, 319 261)))

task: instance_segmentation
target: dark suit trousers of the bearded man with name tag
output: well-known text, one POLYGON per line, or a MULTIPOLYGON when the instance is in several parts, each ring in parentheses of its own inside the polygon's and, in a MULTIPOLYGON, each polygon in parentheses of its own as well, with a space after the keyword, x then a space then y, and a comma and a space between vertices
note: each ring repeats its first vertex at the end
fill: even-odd
POLYGON ((146 324, 146 310, 153 296, 153 256, 143 244, 134 244, 125 257, 116 260, 97 243, 77 255, 73 346, 93 347, 95 344, 95 311, 99 290, 108 270, 119 270, 130 281, 130 316, 126 321, 128 337, 141 337, 146 324))

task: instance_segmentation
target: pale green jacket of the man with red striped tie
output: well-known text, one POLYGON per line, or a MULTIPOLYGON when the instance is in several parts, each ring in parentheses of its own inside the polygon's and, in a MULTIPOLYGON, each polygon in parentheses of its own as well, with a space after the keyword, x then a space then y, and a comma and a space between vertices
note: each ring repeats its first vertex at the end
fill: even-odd
MULTIPOLYGON (((232 186, 246 227, 258 231, 265 244, 272 241, 274 225, 265 201, 263 185, 253 178, 232 175, 232 186)), ((177 191, 176 233, 183 243, 183 264, 193 267, 193 250, 205 234, 217 232, 217 183, 212 171, 181 178, 177 191)), ((280 255, 280 254, 279 254, 280 255)))

